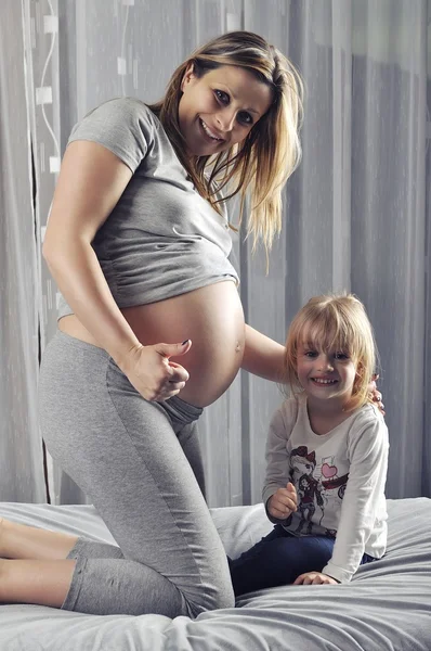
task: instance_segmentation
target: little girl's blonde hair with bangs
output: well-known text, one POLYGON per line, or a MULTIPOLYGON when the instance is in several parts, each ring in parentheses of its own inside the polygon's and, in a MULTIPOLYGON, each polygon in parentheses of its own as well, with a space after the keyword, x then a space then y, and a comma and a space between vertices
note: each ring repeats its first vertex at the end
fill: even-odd
POLYGON ((302 387, 298 380, 298 348, 312 343, 317 350, 339 350, 356 366, 351 399, 344 409, 351 411, 373 403, 368 385, 378 362, 371 323, 364 305, 353 294, 314 296, 299 310, 290 324, 286 341, 286 375, 293 393, 302 387))

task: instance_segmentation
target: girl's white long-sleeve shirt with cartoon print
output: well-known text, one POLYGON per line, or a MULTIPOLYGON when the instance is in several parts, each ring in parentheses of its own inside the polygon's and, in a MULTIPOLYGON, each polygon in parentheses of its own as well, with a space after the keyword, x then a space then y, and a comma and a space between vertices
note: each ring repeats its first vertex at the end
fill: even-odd
POLYGON ((298 510, 284 521, 269 518, 296 536, 335 536, 322 572, 340 583, 352 578, 364 552, 379 559, 386 551, 388 450, 388 427, 374 405, 323 435, 311 427, 304 394, 285 400, 271 421, 263 502, 291 482, 298 510))

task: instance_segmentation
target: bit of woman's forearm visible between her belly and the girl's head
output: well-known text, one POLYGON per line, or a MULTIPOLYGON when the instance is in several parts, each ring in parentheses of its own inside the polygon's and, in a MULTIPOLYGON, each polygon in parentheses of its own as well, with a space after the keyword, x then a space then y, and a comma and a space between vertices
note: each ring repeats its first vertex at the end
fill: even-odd
POLYGON ((241 368, 273 382, 285 382, 286 348, 246 324, 246 345, 241 368))

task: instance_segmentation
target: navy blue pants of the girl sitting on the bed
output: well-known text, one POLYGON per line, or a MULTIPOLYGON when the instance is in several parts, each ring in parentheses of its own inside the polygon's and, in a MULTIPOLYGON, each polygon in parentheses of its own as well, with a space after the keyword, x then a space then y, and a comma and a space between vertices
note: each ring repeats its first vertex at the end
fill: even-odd
MULTIPOLYGON (((292 584, 304 572, 322 572, 334 544, 335 538, 326 536, 292 536, 276 524, 260 542, 228 560, 235 595, 292 584)), ((374 560, 364 553, 361 564, 374 560)))

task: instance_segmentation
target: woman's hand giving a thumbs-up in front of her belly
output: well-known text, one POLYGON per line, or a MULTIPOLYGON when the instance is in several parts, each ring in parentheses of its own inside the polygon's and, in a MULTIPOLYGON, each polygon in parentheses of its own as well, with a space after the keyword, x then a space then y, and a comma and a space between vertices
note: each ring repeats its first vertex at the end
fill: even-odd
POLYGON ((169 358, 185 355, 191 346, 191 340, 182 344, 141 345, 132 348, 118 366, 146 400, 167 400, 180 393, 188 380, 187 371, 169 358))

